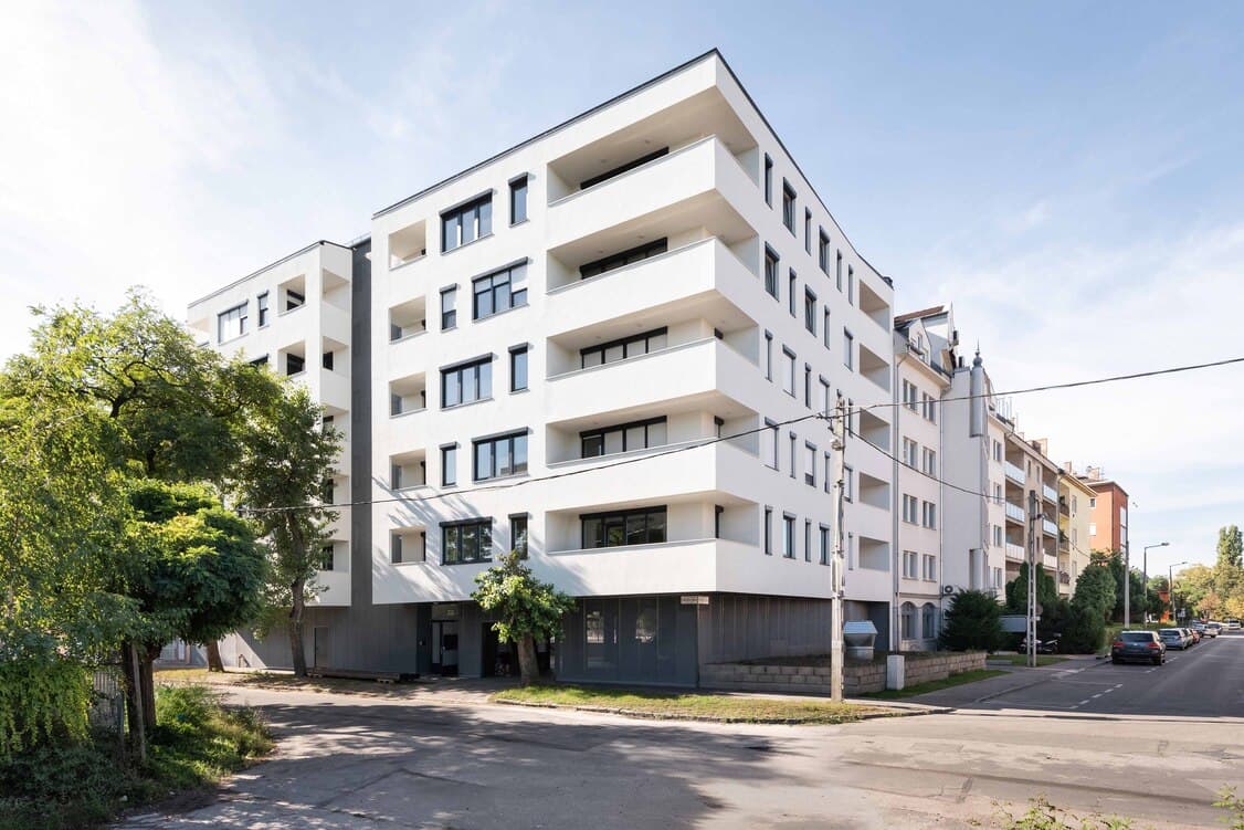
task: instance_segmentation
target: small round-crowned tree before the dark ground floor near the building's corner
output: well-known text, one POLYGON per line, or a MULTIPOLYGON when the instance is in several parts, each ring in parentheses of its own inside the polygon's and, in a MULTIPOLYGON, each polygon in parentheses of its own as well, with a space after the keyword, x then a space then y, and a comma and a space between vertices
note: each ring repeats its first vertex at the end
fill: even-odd
POLYGON ((541 582, 522 564, 518 551, 475 576, 471 599, 484 611, 495 613, 493 631, 518 645, 522 683, 536 681, 536 638, 552 640, 561 632, 561 617, 575 609, 575 599, 549 582, 541 582))

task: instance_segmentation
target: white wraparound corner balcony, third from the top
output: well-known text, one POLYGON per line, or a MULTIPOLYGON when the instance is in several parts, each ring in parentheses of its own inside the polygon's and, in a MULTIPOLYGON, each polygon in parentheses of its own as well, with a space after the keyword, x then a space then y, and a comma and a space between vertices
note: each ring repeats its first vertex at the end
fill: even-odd
POLYGON ((550 377, 545 419, 570 421, 717 392, 745 402, 763 382, 753 362, 708 337, 550 377))

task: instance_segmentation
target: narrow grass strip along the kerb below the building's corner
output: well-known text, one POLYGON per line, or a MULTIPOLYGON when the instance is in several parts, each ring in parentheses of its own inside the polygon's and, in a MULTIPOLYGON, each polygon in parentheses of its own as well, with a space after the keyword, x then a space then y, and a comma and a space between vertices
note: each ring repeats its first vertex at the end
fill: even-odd
POLYGON ((816 698, 694 694, 615 689, 588 686, 529 686, 496 692, 501 703, 566 707, 651 718, 720 720, 724 723, 851 723, 891 714, 882 707, 832 703, 816 698))

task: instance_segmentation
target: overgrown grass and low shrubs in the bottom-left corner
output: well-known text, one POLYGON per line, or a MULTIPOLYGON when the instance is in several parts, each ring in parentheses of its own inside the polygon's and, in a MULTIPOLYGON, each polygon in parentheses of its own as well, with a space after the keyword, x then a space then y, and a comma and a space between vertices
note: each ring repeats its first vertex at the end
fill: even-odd
POLYGON ((0 760, 0 830, 92 828, 124 809, 193 804, 272 748, 253 709, 203 686, 160 688, 146 765, 118 762, 116 738, 40 745, 0 760))

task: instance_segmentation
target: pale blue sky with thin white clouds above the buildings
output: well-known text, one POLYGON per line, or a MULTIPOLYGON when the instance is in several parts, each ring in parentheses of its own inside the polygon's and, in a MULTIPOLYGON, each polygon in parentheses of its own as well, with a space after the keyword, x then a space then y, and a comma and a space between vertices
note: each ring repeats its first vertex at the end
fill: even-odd
MULTIPOLYGON (((24 4, 0 29, 0 356, 170 314, 717 46, 896 311, 1000 388, 1244 355, 1244 5, 24 4)), ((1244 368, 1015 401, 1157 566, 1244 521, 1244 368)), ((1151 564, 1151 569, 1156 570, 1151 564)))

